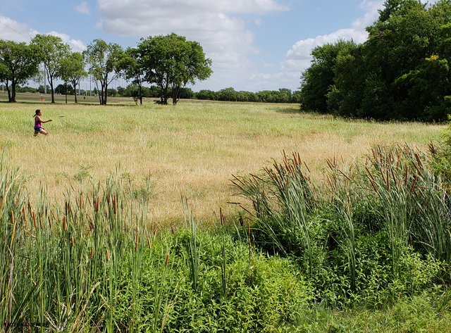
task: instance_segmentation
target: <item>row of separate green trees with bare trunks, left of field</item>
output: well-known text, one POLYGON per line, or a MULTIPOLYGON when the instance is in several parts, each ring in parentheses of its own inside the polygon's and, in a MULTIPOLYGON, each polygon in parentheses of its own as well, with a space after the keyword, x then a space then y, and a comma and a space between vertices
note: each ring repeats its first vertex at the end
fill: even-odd
POLYGON ((16 102, 20 84, 37 80, 41 64, 51 103, 55 102, 57 79, 73 87, 76 103, 75 87, 91 75, 101 105, 106 105, 109 84, 118 77, 135 84, 141 103, 143 84, 148 83, 159 87, 161 103, 167 104, 171 96, 176 104, 187 84, 206 80, 212 73, 211 59, 205 57, 202 46, 174 33, 142 38, 137 47, 125 50, 116 43, 94 39, 83 52, 70 51, 60 37, 37 34, 29 44, 0 40, 0 82, 6 87, 8 101, 16 102))

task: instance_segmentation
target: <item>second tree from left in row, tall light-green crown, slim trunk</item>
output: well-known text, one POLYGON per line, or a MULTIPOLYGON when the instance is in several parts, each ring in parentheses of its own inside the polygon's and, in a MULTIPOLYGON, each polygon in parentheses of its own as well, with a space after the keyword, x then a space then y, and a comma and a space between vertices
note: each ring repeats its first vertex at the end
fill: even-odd
POLYGON ((51 89, 51 103, 55 103, 54 80, 61 77, 61 60, 68 56, 70 48, 60 37, 51 34, 37 34, 31 41, 39 49, 39 56, 44 63, 47 80, 51 89))

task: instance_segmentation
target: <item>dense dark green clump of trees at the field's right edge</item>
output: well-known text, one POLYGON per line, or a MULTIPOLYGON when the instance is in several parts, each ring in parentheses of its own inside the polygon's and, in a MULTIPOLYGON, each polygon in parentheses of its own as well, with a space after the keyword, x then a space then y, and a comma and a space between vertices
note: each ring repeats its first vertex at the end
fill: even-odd
POLYGON ((302 73, 302 110, 377 120, 451 113, 451 1, 387 0, 363 44, 316 47, 302 73))

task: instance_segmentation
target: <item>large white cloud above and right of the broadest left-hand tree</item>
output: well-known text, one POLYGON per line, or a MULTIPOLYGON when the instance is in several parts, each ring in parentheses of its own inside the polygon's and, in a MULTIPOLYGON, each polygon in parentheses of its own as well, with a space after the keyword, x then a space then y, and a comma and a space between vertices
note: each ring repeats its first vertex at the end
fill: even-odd
POLYGON ((98 0, 98 4, 97 27, 104 32, 132 37, 175 32, 199 42, 213 61, 209 89, 230 87, 251 75, 250 56, 259 49, 237 14, 288 10, 276 0, 98 0))

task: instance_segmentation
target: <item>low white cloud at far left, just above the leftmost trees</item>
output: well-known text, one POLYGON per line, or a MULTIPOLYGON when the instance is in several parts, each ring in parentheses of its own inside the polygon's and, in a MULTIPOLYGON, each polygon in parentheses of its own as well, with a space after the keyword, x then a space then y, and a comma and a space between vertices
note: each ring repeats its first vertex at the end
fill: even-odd
POLYGON ((12 40, 15 42, 30 42, 36 34, 52 34, 63 39, 73 51, 82 51, 86 49, 85 44, 79 39, 72 39, 68 34, 61 32, 39 32, 23 23, 19 23, 6 16, 0 16, 0 39, 12 40))

